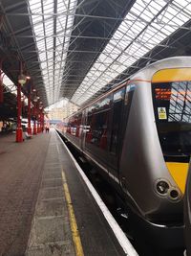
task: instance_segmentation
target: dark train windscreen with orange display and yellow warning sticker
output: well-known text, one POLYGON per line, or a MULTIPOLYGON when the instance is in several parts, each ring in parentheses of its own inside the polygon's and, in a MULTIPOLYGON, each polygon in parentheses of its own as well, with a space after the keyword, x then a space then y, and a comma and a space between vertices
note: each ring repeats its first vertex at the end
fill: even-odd
POLYGON ((191 81, 153 82, 152 94, 165 161, 188 162, 191 154, 191 81))

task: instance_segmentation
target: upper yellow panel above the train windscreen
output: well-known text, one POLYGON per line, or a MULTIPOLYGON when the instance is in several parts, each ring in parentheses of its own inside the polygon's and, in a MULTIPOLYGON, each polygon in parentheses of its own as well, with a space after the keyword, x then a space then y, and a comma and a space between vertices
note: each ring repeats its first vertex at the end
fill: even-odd
POLYGON ((191 81, 191 68, 169 68, 156 72, 152 82, 191 81))

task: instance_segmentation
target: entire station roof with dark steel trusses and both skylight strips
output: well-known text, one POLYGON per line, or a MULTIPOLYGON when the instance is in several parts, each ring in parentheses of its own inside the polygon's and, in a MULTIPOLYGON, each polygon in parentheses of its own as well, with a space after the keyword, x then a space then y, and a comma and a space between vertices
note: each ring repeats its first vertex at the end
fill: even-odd
POLYGON ((85 105, 148 63, 191 55, 190 0, 1 0, 0 10, 3 70, 16 82, 21 59, 44 106, 85 105))

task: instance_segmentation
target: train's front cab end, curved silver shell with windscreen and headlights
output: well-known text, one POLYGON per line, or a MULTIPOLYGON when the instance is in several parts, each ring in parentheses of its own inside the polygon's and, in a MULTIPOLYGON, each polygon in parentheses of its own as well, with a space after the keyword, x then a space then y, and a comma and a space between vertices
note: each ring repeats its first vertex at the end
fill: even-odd
MULTIPOLYGON (((191 58, 136 74, 120 161, 121 187, 138 225, 161 246, 183 246, 183 196, 191 154, 191 58)), ((176 254, 175 254, 176 255, 176 254)))

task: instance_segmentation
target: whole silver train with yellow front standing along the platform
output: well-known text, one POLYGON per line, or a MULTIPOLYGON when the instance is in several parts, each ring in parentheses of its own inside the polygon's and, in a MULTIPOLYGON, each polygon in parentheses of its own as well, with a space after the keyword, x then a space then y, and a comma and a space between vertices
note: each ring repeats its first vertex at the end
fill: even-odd
POLYGON ((107 179, 150 239, 183 247, 191 57, 148 64, 65 122, 63 136, 107 179))

